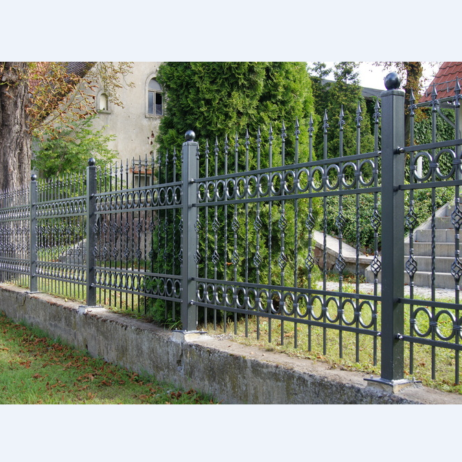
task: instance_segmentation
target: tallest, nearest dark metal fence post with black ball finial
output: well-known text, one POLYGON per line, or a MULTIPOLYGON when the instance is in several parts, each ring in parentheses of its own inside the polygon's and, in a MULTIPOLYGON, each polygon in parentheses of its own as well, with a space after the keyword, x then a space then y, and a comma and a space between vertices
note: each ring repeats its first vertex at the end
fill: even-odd
POLYGON ((404 91, 395 73, 385 77, 382 99, 382 372, 393 387, 404 382, 404 91))

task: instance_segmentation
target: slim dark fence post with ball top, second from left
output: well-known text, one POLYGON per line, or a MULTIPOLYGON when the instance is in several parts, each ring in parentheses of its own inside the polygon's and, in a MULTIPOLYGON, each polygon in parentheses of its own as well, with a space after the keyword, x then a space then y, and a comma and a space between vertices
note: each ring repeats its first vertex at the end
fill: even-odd
POLYGON ((89 159, 86 167, 86 306, 96 305, 95 287, 95 194, 96 194, 96 165, 95 159, 89 159))

